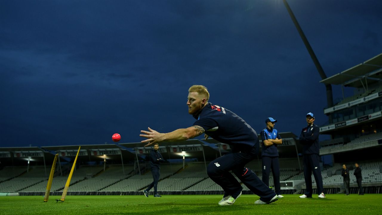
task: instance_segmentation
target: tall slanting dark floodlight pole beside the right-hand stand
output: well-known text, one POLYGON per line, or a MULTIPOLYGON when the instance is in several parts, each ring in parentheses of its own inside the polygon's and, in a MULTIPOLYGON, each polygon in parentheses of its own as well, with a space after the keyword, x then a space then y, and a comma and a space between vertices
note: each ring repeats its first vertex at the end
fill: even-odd
MULTIPOLYGON (((293 23, 295 23, 297 31, 300 34, 300 37, 303 40, 306 49, 308 49, 308 52, 309 52, 309 54, 310 54, 310 56, 314 62, 314 65, 316 65, 316 68, 317 68, 318 73, 320 74, 320 77, 322 78, 322 80, 326 79, 327 78, 326 74, 325 74, 324 70, 322 69, 320 62, 318 61, 316 55, 314 54, 314 51, 313 51, 312 47, 310 46, 308 39, 306 39, 306 36, 303 32, 303 29, 301 29, 300 25, 298 24, 298 21, 297 21, 295 15, 293 14, 292 9, 289 7, 288 2, 286 2, 286 0, 283 0, 283 2, 284 2, 284 5, 286 7, 286 10, 288 10, 290 17, 292 18, 293 23)), ((326 88, 326 99, 327 99, 328 107, 333 107, 332 85, 325 83, 325 88, 326 88)), ((329 122, 330 123, 332 122, 332 116, 331 115, 329 115, 329 122)))

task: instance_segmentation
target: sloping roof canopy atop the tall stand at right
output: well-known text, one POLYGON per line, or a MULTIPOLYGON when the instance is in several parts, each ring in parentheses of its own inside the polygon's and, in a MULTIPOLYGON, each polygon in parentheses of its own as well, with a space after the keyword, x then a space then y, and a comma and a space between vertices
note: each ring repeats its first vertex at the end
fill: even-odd
POLYGON ((321 80, 320 83, 366 88, 382 77, 382 53, 343 72, 321 80))

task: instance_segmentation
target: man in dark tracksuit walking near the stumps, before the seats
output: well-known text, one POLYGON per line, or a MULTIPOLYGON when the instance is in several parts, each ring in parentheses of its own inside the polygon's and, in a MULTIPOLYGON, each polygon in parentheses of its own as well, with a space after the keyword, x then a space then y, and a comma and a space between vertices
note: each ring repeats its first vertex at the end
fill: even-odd
POLYGON ((149 191, 152 187, 154 187, 154 197, 162 197, 161 195, 158 194, 158 181, 159 181, 159 164, 160 162, 163 162, 163 157, 159 153, 159 144, 155 143, 154 144, 154 149, 150 151, 150 165, 151 165, 151 173, 152 173, 152 178, 154 181, 147 187, 147 189, 143 190, 143 194, 146 197, 149 197, 149 191))

